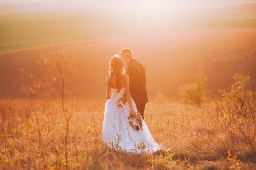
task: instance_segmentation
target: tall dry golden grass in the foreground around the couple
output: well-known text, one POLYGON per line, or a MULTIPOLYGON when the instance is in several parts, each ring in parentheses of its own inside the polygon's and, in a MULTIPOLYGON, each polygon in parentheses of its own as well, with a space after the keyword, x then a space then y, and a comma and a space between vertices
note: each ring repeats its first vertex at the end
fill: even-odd
POLYGON ((67 154, 61 102, 5 100, 0 104, 0 167, 6 169, 253 169, 255 155, 242 134, 227 130, 214 103, 201 109, 158 95, 145 121, 169 153, 134 155, 102 141, 105 100, 67 101, 73 107, 67 154), (240 161, 239 161, 240 160, 240 161))

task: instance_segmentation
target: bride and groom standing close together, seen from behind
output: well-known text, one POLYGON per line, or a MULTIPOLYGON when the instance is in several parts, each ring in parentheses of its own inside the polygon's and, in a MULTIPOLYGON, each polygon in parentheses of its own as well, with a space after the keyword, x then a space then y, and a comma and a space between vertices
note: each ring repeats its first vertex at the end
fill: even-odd
POLYGON ((144 121, 146 91, 145 67, 131 49, 122 49, 109 63, 106 79, 103 141, 108 147, 131 153, 152 154, 162 149, 144 121), (126 69, 125 69, 126 63, 126 69))

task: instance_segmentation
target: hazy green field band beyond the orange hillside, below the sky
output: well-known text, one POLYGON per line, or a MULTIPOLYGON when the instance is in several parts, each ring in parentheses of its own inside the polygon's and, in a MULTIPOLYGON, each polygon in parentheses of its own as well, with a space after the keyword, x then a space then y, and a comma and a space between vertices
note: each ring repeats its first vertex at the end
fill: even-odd
POLYGON ((256 20, 234 12, 212 14, 190 11, 181 16, 165 11, 158 17, 146 14, 88 11, 38 12, 0 15, 0 52, 76 42, 105 37, 136 35, 142 32, 172 32, 195 29, 255 28, 256 20), (226 17, 228 16, 228 17, 226 17), (143 20, 137 20, 141 17, 143 20))

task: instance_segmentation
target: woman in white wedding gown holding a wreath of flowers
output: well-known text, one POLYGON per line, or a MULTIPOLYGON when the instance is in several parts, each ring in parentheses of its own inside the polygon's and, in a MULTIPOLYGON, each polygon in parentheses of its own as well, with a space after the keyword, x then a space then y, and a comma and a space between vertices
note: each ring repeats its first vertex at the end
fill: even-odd
POLYGON ((118 55, 109 63, 109 77, 106 79, 108 101, 105 104, 103 121, 103 141, 108 147, 131 153, 152 154, 162 149, 158 145, 145 121, 137 113, 136 104, 131 98, 129 76, 125 74, 125 65, 118 55), (118 107, 118 100, 126 95, 127 101, 118 107), (134 128, 139 127, 141 128, 134 128))

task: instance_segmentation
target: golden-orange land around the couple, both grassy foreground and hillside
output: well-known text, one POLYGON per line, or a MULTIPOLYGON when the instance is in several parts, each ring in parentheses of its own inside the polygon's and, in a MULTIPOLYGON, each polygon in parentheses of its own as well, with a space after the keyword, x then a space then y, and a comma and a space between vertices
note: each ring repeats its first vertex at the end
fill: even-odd
POLYGON ((246 89, 255 91, 255 36, 255 29, 175 32, 148 41, 141 35, 136 41, 120 37, 1 53, 1 168, 66 169, 67 151, 68 169, 255 169, 251 145, 234 124, 227 127, 215 104, 222 101, 218 89, 229 91, 239 71, 252 77, 246 89), (172 149, 169 153, 116 152, 102 141, 108 61, 124 46, 146 67, 145 122, 155 141, 172 149), (44 60, 56 56, 75 59, 64 92, 71 115, 68 135, 57 87, 38 87, 46 83, 44 60), (199 67, 208 80, 201 108, 178 98, 179 87, 191 82, 199 67))

